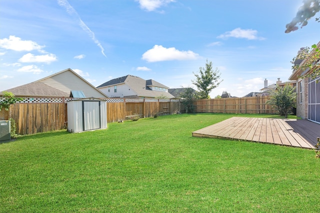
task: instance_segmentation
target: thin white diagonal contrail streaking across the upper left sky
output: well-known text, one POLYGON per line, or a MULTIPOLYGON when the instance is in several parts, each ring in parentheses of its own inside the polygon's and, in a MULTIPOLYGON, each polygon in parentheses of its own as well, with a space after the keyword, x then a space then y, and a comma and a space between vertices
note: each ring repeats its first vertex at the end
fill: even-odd
POLYGON ((104 54, 104 49, 101 45, 101 43, 95 38, 94 33, 89 29, 89 27, 81 20, 78 13, 73 9, 73 7, 69 4, 67 0, 57 0, 58 4, 66 9, 66 12, 69 13, 72 17, 74 17, 78 22, 79 26, 88 33, 88 35, 91 37, 94 43, 101 49, 102 55, 106 57, 104 54))

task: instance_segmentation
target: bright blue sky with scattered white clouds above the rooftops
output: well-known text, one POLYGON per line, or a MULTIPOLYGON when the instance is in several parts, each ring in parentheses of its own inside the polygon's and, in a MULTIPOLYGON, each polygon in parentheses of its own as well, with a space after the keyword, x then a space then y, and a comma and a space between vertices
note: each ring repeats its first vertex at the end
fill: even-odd
MULTIPOLYGON (((210 96, 287 81, 312 17, 284 33, 302 0, 0 0, 0 91, 71 68, 92 85, 127 74, 192 86, 206 59, 223 81, 210 96)), ((316 16, 319 13, 316 14, 316 16)), ((193 88, 195 88, 193 86, 193 88)))

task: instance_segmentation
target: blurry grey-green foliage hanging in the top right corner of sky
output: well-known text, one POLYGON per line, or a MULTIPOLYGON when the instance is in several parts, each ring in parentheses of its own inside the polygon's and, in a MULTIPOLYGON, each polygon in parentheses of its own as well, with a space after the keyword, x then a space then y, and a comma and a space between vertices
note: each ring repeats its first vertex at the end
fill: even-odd
MULTIPOLYGON (((307 25, 307 21, 318 11, 320 11, 320 0, 303 0, 303 5, 299 7, 296 16, 285 25, 285 33, 297 30, 297 25, 301 25, 301 28, 307 25)), ((319 20, 315 18, 315 21, 320 22, 319 20)))

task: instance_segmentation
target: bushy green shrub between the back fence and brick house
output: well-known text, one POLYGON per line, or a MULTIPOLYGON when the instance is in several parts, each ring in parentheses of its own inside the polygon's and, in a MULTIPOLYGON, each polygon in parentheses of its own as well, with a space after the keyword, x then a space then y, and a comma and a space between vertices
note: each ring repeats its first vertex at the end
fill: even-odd
POLYGON ((285 85, 284 87, 278 87, 272 91, 270 100, 267 104, 270 105, 277 113, 287 118, 292 107, 296 105, 296 93, 294 92, 295 87, 285 85))

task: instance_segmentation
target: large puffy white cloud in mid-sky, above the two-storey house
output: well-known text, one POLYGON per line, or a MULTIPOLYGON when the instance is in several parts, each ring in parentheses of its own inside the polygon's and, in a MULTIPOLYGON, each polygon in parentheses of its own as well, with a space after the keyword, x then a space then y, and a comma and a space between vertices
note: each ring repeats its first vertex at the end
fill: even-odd
POLYGON ((170 61, 170 60, 194 60, 199 54, 190 50, 180 51, 174 47, 165 48, 161 45, 154 45, 152 49, 143 53, 142 59, 148 62, 170 61))

